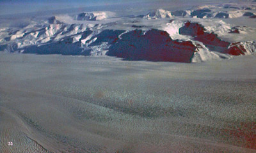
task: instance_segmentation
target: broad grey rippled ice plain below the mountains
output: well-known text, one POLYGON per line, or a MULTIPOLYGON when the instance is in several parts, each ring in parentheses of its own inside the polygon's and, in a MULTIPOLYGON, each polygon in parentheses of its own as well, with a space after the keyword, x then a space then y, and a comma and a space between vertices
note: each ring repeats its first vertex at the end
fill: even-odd
POLYGON ((183 64, 1 53, 0 62, 3 152, 255 152, 255 55, 183 64))

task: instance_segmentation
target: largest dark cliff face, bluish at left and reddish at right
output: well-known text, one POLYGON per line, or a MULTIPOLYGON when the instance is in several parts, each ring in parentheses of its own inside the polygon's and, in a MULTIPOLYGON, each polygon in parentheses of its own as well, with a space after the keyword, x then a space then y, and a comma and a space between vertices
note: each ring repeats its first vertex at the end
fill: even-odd
POLYGON ((195 50, 191 41, 175 41, 166 31, 152 29, 145 34, 141 30, 122 34, 107 55, 131 61, 191 62, 195 50))

